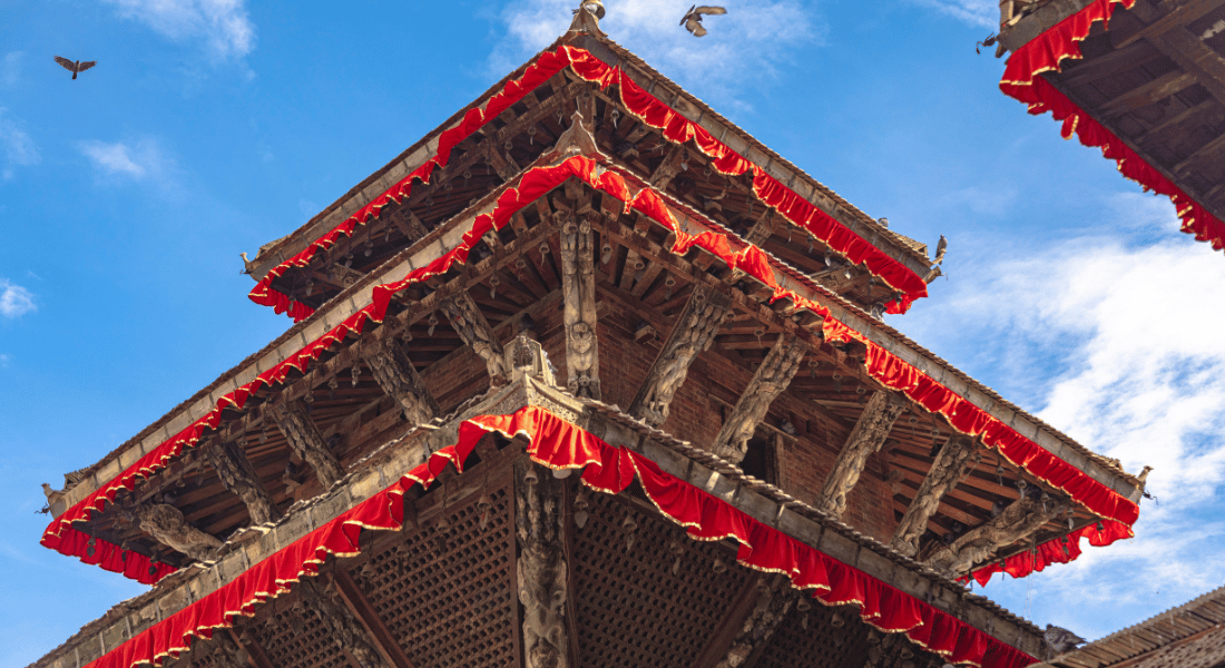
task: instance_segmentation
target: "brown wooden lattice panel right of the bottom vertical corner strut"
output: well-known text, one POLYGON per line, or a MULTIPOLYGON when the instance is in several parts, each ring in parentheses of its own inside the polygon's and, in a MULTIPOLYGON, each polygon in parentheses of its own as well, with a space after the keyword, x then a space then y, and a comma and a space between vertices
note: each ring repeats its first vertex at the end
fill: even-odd
POLYGON ((578 664, 691 666, 746 579, 757 575, 736 565, 731 552, 691 541, 676 525, 612 496, 592 494, 590 504, 587 525, 575 532, 578 664), (715 559, 725 572, 715 572, 715 559))

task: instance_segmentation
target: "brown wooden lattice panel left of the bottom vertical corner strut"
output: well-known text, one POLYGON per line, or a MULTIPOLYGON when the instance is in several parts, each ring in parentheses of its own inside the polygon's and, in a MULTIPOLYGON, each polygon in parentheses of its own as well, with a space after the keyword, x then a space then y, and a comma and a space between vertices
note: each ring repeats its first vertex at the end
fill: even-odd
MULTIPOLYGON (((514 537, 508 489, 491 489, 486 527, 477 495, 356 569, 354 580, 417 668, 519 666, 511 591, 514 537)), ((413 531, 407 528, 405 531, 413 531)))

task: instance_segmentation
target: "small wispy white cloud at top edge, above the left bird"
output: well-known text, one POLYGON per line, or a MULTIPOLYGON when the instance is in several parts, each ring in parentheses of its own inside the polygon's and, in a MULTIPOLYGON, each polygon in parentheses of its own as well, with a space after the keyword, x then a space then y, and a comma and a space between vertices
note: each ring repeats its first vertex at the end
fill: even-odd
POLYGON ((246 0, 104 0, 124 18, 140 21, 175 42, 202 40, 217 60, 241 59, 255 49, 246 0))

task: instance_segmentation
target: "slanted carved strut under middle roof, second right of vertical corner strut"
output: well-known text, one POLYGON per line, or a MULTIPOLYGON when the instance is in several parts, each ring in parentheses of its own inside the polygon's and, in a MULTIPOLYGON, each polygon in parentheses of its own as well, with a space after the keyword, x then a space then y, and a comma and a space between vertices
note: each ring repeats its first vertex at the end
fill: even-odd
POLYGON ((753 374, 753 379, 748 381, 748 387, 740 395, 728 420, 723 423, 719 435, 715 436, 715 455, 733 463, 740 463, 745 458, 748 439, 753 438, 753 431, 766 417, 769 404, 791 384, 807 351, 809 347, 795 335, 786 332, 779 335, 774 347, 753 374))

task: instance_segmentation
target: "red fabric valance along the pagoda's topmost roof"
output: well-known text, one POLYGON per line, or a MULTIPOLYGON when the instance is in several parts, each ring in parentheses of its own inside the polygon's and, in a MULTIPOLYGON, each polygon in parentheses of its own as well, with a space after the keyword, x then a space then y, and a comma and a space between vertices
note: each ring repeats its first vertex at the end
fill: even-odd
POLYGON ((312 241, 303 251, 277 265, 251 289, 249 297, 256 304, 273 306, 276 311, 288 313, 294 321, 309 317, 314 310, 305 304, 292 300, 272 288, 272 282, 289 267, 304 267, 320 251, 333 246, 342 235, 352 237, 358 226, 376 218, 379 212, 392 201, 399 202, 413 191, 413 181, 430 183, 430 176, 437 167, 446 167, 451 151, 469 135, 505 112, 534 91, 565 67, 571 67, 579 77, 598 83, 601 88, 616 85, 626 108, 652 127, 663 130, 665 139, 675 143, 693 141, 702 153, 713 159, 714 168, 723 174, 741 175, 753 172, 753 191, 767 206, 777 208, 791 223, 809 230, 813 237, 839 252, 854 265, 864 265, 881 278, 893 290, 902 295, 900 303, 891 302, 889 313, 905 313, 910 303, 927 295, 927 283, 915 272, 907 268, 888 254, 881 251, 866 239, 855 234, 824 211, 800 197, 791 189, 778 183, 760 165, 755 165, 723 142, 715 140, 701 125, 690 121, 679 112, 655 99, 643 91, 620 67, 614 67, 597 59, 590 53, 573 47, 559 47, 546 51, 529 65, 523 76, 506 85, 502 92, 495 94, 484 109, 472 109, 463 123, 443 131, 439 137, 439 148, 434 158, 414 169, 410 174, 391 186, 374 201, 363 206, 356 213, 312 241))

